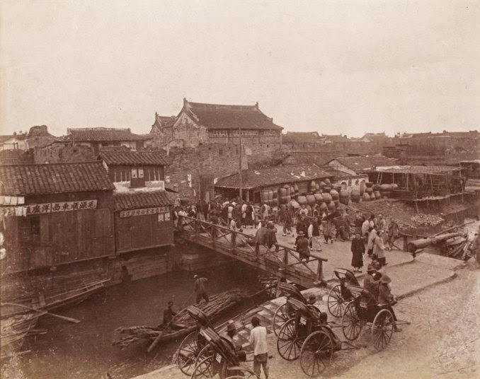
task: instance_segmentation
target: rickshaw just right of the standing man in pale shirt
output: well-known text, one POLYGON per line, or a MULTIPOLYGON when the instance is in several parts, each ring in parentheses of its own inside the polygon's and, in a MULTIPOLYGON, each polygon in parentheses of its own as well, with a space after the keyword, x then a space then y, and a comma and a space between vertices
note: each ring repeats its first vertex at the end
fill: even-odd
POLYGON ((318 308, 295 298, 289 298, 287 302, 295 315, 278 332, 278 354, 287 361, 300 358, 300 366, 306 375, 316 376, 324 371, 335 351, 360 347, 340 341, 327 323, 327 314, 318 308), (343 347, 343 344, 347 346, 343 347))

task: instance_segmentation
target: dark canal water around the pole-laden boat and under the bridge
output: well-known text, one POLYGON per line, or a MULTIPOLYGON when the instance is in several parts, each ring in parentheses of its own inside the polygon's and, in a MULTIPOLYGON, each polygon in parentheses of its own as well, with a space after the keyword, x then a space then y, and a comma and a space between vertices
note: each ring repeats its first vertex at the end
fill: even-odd
MULTIPOLYGON (((239 262, 199 274, 209 279, 207 291, 212 294, 232 288, 252 294, 264 288, 262 274, 239 262)), ((195 302, 192 273, 171 272, 105 288, 84 303, 58 312, 81 320, 79 324, 42 317, 38 328, 47 329, 47 334, 29 337, 25 342, 24 349, 31 352, 25 354, 16 366, 16 370, 23 374, 19 377, 108 378, 108 373, 113 379, 132 378, 171 363, 179 342, 164 344, 154 354, 146 354, 148 342, 120 350, 112 346, 112 337, 117 327, 159 325, 167 301, 172 298, 177 308, 195 302)), ((232 313, 239 313, 252 305, 253 301, 246 301, 232 313)), ((229 316, 232 314, 226 317, 229 316)))

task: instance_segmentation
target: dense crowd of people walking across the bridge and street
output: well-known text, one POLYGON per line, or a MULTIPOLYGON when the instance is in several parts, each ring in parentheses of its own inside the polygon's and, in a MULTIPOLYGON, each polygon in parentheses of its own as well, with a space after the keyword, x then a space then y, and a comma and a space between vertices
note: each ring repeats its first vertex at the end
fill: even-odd
POLYGON ((322 250, 322 239, 325 244, 351 240, 351 265, 355 272, 362 272, 365 252, 382 266, 386 265, 385 251, 395 247, 399 235, 399 225, 393 218, 387 221, 382 214, 352 215, 348 208, 328 211, 321 209, 319 204, 270 206, 263 203, 256 206, 239 198, 227 200, 217 197, 211 202, 199 201, 187 206, 177 204, 173 209, 176 226, 179 216, 199 218, 240 232, 245 228, 256 228, 257 255, 261 245, 270 249, 277 243, 278 231, 284 237, 292 235, 295 237, 294 247, 303 262, 309 261, 310 251, 322 250))

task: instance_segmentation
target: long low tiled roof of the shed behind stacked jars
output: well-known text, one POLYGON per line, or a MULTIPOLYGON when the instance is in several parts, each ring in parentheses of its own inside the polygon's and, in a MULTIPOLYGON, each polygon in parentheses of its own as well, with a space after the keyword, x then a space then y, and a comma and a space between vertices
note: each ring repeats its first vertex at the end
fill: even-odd
MULTIPOLYGON (((292 165, 263 168, 260 170, 244 170, 241 174, 241 185, 244 189, 280 185, 283 183, 304 182, 305 180, 316 180, 332 176, 317 165, 292 165)), ((239 174, 221 177, 215 184, 215 187, 239 188, 239 174)))

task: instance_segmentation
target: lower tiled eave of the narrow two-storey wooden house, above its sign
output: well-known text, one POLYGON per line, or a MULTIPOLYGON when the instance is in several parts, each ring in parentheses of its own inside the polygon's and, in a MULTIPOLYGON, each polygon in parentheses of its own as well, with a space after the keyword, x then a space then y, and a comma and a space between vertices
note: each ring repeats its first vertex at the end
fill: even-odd
POLYGON ((113 201, 115 202, 115 211, 173 204, 166 191, 118 192, 113 194, 113 201))

